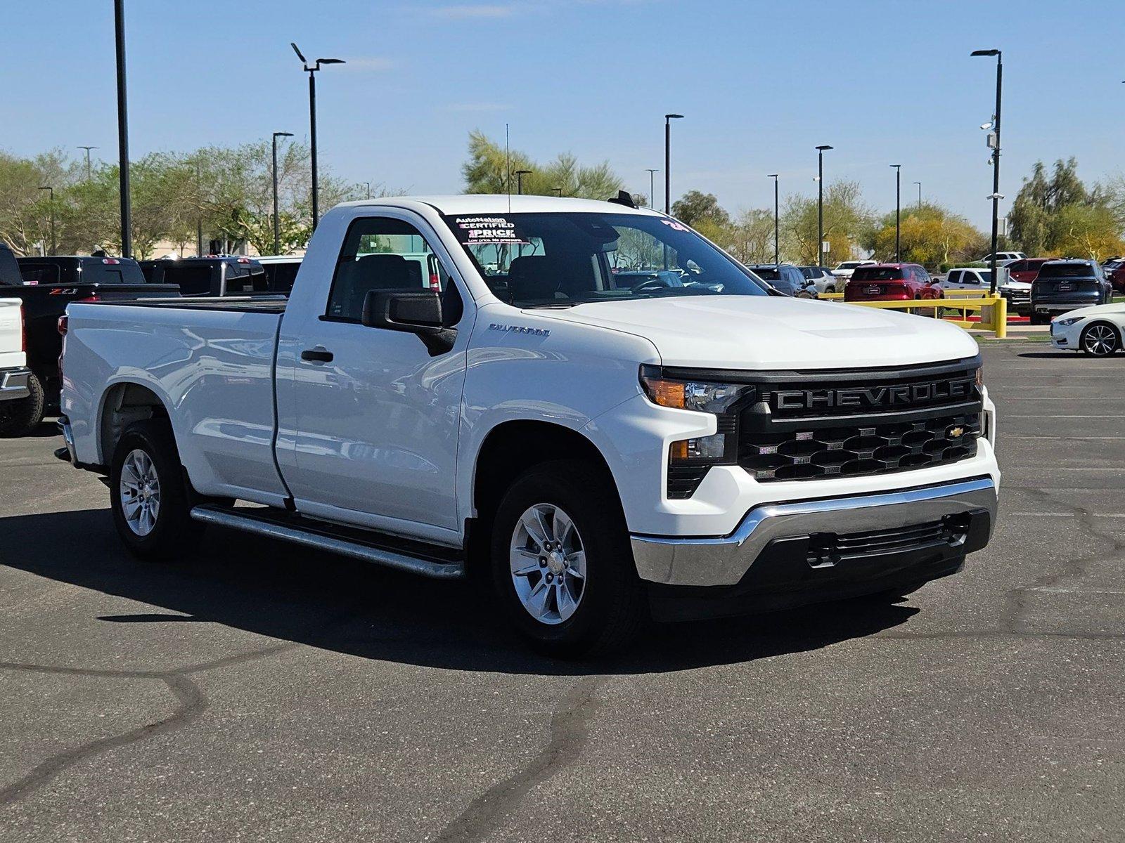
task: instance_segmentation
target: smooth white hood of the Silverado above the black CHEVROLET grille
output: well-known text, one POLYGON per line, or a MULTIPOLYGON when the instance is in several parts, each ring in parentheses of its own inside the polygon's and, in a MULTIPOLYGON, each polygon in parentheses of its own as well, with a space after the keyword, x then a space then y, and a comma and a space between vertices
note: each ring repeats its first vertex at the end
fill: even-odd
POLYGON ((764 296, 597 301, 536 310, 649 339, 664 365, 793 369, 909 365, 972 357, 955 325, 892 310, 764 296))

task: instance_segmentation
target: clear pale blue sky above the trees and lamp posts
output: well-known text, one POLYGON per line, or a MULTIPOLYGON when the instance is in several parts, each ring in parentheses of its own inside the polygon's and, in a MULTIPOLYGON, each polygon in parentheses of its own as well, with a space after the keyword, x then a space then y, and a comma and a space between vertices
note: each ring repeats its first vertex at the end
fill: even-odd
MULTIPOLYGON (((872 205, 925 196, 984 227, 984 133, 1005 51, 1001 192, 1036 158, 1076 155, 1088 181, 1125 170, 1120 8, 1090 2, 687 2, 681 0, 127 0, 130 145, 238 144, 308 132, 306 55, 339 56, 317 88, 322 161, 351 181, 457 192, 468 132, 546 161, 609 160, 631 189, 664 166, 673 197, 698 188, 730 209, 858 180, 872 205)), ((17 154, 93 144, 116 157, 111 0, 11 3, 3 46, 17 154)), ((75 151, 75 154, 81 154, 75 151)), ((658 175, 658 178, 663 178, 658 175)), ((662 198, 657 188, 658 201, 662 198)), ((1007 203, 1005 203, 1006 207, 1007 203)), ((1002 208, 1004 209, 1004 208, 1002 208)), ((1001 210, 1002 210, 1001 209, 1001 210)))

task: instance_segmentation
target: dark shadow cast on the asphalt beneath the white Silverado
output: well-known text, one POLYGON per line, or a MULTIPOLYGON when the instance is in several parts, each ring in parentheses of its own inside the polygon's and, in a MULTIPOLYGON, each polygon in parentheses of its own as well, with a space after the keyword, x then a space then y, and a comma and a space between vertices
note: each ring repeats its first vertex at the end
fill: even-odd
POLYGON ((141 562, 118 542, 108 509, 0 518, 0 535, 19 537, 0 550, 4 566, 153 607, 120 614, 97 593, 79 602, 89 605, 91 618, 119 625, 123 646, 136 635, 181 635, 187 629, 199 635, 212 623, 364 659, 440 669, 656 673, 818 650, 898 626, 918 611, 852 601, 754 618, 660 624, 615 660, 562 662, 515 638, 486 589, 474 582, 425 580, 216 528, 183 561, 141 562))

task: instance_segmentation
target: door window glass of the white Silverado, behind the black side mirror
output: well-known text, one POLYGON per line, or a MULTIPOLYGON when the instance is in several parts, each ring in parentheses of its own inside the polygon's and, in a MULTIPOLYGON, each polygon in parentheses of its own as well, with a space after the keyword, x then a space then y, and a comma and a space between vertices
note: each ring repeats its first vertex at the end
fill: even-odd
POLYGON ((444 291, 449 275, 430 244, 410 223, 363 217, 348 228, 324 315, 359 321, 372 290, 444 291))

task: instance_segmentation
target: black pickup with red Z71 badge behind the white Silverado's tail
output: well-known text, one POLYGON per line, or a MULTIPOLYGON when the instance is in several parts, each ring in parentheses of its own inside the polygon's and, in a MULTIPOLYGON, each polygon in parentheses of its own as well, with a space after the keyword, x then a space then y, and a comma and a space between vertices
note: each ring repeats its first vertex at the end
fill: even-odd
POLYGON ((178 297, 176 284, 148 284, 136 261, 84 255, 14 259, 0 243, 0 297, 24 300, 30 396, 0 418, 0 435, 21 436, 58 406, 58 317, 72 301, 178 297))

